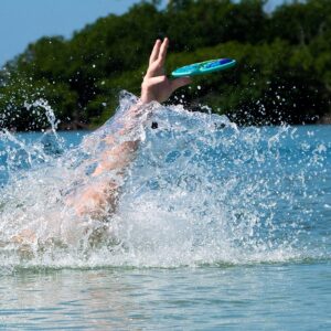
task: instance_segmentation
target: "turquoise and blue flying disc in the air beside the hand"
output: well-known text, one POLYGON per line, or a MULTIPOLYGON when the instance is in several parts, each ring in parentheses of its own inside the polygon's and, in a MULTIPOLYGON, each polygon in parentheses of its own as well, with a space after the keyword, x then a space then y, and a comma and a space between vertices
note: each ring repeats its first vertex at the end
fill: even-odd
POLYGON ((236 64, 232 58, 217 58, 204 62, 199 62, 177 68, 171 73, 173 77, 195 76, 209 73, 215 73, 233 67, 236 64))

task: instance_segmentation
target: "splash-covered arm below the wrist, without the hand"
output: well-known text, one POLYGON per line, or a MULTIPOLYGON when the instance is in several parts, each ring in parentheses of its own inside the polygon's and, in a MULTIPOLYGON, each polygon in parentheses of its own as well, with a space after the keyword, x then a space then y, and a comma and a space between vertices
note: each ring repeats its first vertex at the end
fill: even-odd
POLYGON ((136 131, 137 126, 143 125, 146 117, 141 118, 145 114, 142 111, 145 106, 141 103, 131 106, 115 122, 118 130, 110 131, 103 138, 105 151, 96 160, 97 167, 92 173, 94 179, 66 201, 77 215, 99 218, 115 212, 121 185, 120 178, 134 161, 139 147, 140 136, 136 131))

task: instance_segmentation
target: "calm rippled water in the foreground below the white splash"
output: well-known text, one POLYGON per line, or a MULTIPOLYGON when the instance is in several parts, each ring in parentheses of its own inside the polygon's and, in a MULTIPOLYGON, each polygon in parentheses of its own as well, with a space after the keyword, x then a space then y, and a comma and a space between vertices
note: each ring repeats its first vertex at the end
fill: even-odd
POLYGON ((24 270, 1 278, 1 327, 330 330, 330 263, 24 270))

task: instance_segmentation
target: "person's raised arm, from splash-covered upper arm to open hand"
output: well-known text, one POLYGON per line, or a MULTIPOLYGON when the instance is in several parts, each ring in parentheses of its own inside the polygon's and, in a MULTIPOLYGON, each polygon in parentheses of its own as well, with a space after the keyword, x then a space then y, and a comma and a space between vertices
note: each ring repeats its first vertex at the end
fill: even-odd
MULTIPOLYGON (((190 77, 169 79, 166 75, 164 63, 169 46, 168 38, 163 41, 157 40, 152 49, 149 66, 141 84, 141 96, 137 105, 132 106, 126 116, 121 118, 122 127, 116 135, 127 136, 135 126, 136 119, 146 111, 147 105, 151 102, 163 103, 171 94, 191 83, 190 77)), ((108 136, 105 141, 111 146, 116 137, 108 136)), ((97 162, 92 177, 93 184, 87 185, 77 194, 70 197, 67 204, 74 207, 77 215, 92 215, 94 217, 107 217, 116 211, 118 203, 119 185, 109 178, 105 181, 103 174, 114 171, 122 175, 125 169, 131 162, 139 140, 126 140, 121 143, 113 143, 109 150, 105 151, 97 162), (99 180, 98 180, 99 179, 99 180)))

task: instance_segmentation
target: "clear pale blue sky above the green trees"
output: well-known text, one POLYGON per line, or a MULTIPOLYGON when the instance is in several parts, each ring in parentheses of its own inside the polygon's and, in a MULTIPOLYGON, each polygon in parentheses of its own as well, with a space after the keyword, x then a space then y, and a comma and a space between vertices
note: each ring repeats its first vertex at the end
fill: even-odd
MULTIPOLYGON (((268 9, 284 0, 269 0, 268 9)), ((75 30, 139 0, 0 0, 0 66, 43 35, 70 38, 75 30)), ((166 0, 163 0, 166 2, 166 0)))

